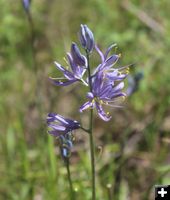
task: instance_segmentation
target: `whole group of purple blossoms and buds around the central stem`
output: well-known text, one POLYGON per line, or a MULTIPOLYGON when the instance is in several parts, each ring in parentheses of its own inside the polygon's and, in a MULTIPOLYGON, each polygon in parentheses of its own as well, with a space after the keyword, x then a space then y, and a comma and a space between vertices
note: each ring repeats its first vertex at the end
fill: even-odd
MULTIPOLYGON (((56 68, 63 73, 63 77, 50 77, 50 81, 57 86, 69 86, 79 82, 89 87, 89 92, 86 94, 87 101, 80 106, 79 111, 83 112, 86 109, 95 108, 102 120, 109 121, 111 116, 109 112, 105 112, 104 106, 120 107, 116 102, 126 96, 122 89, 129 67, 115 68, 115 64, 120 59, 120 54, 111 54, 111 50, 115 45, 109 46, 106 52, 103 53, 96 45, 93 33, 87 25, 81 25, 79 39, 84 54, 81 53, 76 43, 72 43, 70 52, 67 53, 69 67, 64 67, 55 62, 56 68), (99 54, 101 62, 90 73, 92 69, 89 66, 89 58, 94 51, 99 54)), ((48 115, 47 123, 48 132, 60 138, 62 155, 67 157, 70 155, 68 152, 72 147, 70 134, 75 129, 81 128, 81 125, 77 121, 65 119, 54 113, 48 115)))

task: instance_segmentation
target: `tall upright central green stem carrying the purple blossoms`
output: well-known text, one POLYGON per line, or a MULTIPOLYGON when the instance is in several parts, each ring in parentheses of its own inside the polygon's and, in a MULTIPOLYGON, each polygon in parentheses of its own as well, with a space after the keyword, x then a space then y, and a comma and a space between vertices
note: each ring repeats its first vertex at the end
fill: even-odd
MULTIPOLYGON (((89 81, 89 90, 92 92, 92 80, 89 64, 89 53, 86 51, 87 57, 87 71, 88 71, 88 81, 89 81)), ((93 138, 93 109, 90 110, 89 117, 89 140, 90 140, 90 157, 91 157, 91 174, 92 174, 92 200, 96 200, 96 180, 95 180, 95 151, 94 151, 94 138, 93 138)))

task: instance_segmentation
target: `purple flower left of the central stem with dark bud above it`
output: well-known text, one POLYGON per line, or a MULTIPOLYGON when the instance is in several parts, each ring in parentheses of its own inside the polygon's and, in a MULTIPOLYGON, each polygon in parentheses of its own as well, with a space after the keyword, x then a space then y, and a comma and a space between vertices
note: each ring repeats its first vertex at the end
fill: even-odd
POLYGON ((87 68, 87 59, 80 53, 80 50, 75 43, 72 43, 71 52, 67 53, 67 59, 71 71, 64 68, 58 62, 55 62, 57 69, 63 73, 64 78, 50 78, 50 80, 57 86, 67 86, 77 81, 81 81, 87 85, 83 80, 83 75, 87 68))

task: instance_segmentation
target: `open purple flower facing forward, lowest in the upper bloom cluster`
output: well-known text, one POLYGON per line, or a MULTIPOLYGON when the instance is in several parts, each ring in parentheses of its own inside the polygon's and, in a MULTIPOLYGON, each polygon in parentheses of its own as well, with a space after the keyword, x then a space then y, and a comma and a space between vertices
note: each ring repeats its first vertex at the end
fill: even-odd
POLYGON ((122 92, 123 87, 124 82, 115 84, 106 79, 102 71, 98 72, 92 80, 92 91, 87 93, 88 101, 80 107, 80 112, 96 107, 99 117, 104 121, 109 121, 111 116, 109 116, 108 112, 104 111, 103 106, 120 107, 115 105, 115 102, 119 97, 124 99, 126 96, 122 92))

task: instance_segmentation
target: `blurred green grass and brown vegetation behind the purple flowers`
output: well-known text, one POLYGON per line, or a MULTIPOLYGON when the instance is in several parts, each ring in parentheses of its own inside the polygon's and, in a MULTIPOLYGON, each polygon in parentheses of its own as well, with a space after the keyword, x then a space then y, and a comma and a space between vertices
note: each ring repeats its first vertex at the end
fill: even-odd
MULTIPOLYGON (((58 75, 53 61, 64 63, 81 23, 102 48, 118 44, 119 65, 135 63, 131 74, 144 74, 124 109, 112 110, 112 121, 95 119, 98 199, 108 193, 154 199, 154 185, 170 184, 169 9, 168 0, 32 0, 33 48, 22 2, 0 1, 0 199, 69 199, 66 170, 45 121, 53 111, 86 123, 87 112, 77 114, 84 91, 48 81, 58 75)), ((81 131, 75 138, 74 188, 77 200, 90 200, 89 144, 81 131)))

